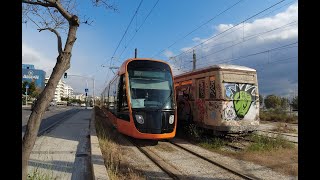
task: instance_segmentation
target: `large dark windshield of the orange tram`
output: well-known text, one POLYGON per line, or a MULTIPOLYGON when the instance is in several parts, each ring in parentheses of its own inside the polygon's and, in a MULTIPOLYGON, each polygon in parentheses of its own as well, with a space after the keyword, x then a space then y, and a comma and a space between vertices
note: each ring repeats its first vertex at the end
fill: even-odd
POLYGON ((132 61, 128 73, 132 108, 173 109, 173 82, 167 64, 132 61))

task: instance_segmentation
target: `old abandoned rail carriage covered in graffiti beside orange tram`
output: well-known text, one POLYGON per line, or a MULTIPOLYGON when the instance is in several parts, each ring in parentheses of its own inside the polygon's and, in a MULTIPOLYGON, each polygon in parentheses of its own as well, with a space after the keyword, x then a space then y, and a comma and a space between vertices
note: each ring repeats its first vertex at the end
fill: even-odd
POLYGON ((195 123, 214 134, 246 133, 259 126, 255 69, 221 64, 174 77, 178 124, 195 123))

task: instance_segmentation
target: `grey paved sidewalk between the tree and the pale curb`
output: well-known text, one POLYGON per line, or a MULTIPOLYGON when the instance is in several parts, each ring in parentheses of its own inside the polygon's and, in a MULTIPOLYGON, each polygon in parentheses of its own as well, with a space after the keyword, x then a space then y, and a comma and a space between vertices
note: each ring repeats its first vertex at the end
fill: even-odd
POLYGON ((29 159, 29 175, 40 179, 92 179, 92 112, 81 110, 38 137, 29 159))

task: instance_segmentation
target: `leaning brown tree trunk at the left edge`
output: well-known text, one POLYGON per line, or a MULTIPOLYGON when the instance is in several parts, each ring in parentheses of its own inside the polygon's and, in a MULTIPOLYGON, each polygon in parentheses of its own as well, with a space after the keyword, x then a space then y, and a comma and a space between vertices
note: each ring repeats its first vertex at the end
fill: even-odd
MULTIPOLYGON (((77 17, 74 20, 78 22, 77 17)), ((34 109, 29 117, 25 134, 22 140, 22 180, 27 179, 28 161, 35 144, 39 127, 42 121, 42 116, 46 111, 46 107, 54 97, 54 92, 63 73, 70 67, 71 51, 76 40, 76 32, 79 24, 70 22, 67 42, 64 51, 57 57, 57 62, 53 68, 48 84, 40 94, 34 109)))

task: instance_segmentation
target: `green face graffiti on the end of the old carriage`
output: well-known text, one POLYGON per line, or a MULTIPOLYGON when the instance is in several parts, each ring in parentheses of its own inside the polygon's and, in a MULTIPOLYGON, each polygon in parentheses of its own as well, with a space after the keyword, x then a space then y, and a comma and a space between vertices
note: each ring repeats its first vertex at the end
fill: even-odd
POLYGON ((239 119, 248 113, 251 104, 256 101, 256 87, 249 84, 226 83, 226 97, 233 101, 233 108, 239 119))

